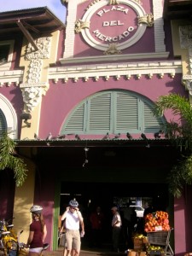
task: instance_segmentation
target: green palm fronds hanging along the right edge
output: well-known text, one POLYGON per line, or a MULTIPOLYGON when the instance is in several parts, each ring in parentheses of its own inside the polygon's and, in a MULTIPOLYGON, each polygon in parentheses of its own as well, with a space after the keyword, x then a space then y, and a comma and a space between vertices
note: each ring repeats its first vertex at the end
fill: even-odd
POLYGON ((181 151, 181 160, 168 175, 169 190, 180 197, 186 184, 192 183, 192 109, 189 100, 177 94, 160 96, 154 108, 154 114, 162 116, 168 109, 174 116, 180 116, 179 124, 173 120, 162 127, 166 137, 175 143, 181 151))

